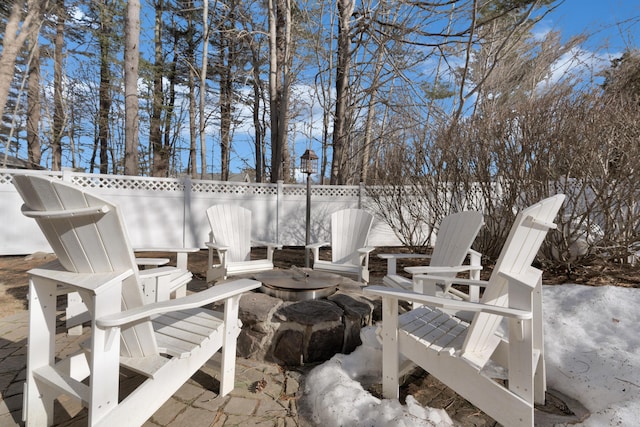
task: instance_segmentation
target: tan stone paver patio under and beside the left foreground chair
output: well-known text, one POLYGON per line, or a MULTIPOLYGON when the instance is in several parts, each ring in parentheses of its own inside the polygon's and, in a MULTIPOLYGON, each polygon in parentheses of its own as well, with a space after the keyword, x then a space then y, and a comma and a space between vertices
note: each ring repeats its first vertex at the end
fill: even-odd
MULTIPOLYGON (((24 425, 22 390, 27 324, 26 311, 0 318, 0 426, 3 427, 24 425)), ((77 350, 87 333, 88 328, 85 328, 81 336, 68 336, 60 322, 56 336, 58 354, 77 350)), ((218 372, 205 365, 144 426, 310 426, 295 411, 295 402, 293 406, 291 402, 302 393, 299 377, 275 364, 238 358, 236 387, 229 395, 220 397, 217 393, 218 372), (261 380, 266 382, 265 387, 256 388, 256 382, 261 380)), ((58 426, 86 425, 86 411, 70 405, 65 399, 56 405, 55 414, 58 426)))

